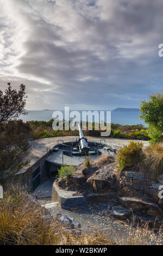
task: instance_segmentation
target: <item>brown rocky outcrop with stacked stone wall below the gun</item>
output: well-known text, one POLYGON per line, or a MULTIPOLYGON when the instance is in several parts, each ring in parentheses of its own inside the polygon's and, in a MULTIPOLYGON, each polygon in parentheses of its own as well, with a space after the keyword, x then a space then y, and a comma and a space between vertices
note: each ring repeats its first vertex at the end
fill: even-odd
POLYGON ((66 190, 82 192, 86 200, 116 200, 128 210, 162 218, 163 200, 159 198, 159 191, 163 175, 154 182, 147 173, 144 175, 136 168, 117 175, 115 167, 115 163, 111 163, 98 168, 83 168, 68 180, 59 179, 58 185, 66 190))

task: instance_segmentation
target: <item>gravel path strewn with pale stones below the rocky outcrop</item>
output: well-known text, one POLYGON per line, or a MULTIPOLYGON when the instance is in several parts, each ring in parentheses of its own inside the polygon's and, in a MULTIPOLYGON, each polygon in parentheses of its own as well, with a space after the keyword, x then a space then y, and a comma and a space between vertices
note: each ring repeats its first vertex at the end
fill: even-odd
MULTIPOLYGON (((40 204, 46 204, 45 200, 41 200, 40 204)), ((69 215, 81 224, 82 232, 90 232, 91 228, 96 227, 98 230, 103 230, 114 241, 118 237, 124 239, 127 237, 126 230, 129 231, 127 221, 116 220, 109 216, 110 206, 116 205, 115 202, 107 203, 88 203, 84 208, 61 208, 59 204, 48 209, 51 215, 69 215)), ((118 239, 120 240, 120 239, 118 239)))

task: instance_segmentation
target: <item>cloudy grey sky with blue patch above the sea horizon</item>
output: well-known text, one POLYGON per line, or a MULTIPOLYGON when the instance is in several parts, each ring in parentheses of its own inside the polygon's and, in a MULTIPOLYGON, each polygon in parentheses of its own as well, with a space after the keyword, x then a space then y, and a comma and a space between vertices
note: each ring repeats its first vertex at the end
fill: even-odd
POLYGON ((161 92, 162 0, 0 0, 0 89, 26 109, 139 107, 161 92))

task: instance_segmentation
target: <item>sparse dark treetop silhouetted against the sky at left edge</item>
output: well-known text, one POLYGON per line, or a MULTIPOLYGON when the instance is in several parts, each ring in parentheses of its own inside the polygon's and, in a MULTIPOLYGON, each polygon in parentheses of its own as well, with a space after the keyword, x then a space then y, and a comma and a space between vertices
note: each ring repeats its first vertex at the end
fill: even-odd
POLYGON ((0 90, 0 124, 9 119, 16 119, 20 114, 26 114, 24 106, 26 105, 26 92, 24 84, 20 85, 20 90, 12 89, 11 83, 8 88, 2 92, 0 90))

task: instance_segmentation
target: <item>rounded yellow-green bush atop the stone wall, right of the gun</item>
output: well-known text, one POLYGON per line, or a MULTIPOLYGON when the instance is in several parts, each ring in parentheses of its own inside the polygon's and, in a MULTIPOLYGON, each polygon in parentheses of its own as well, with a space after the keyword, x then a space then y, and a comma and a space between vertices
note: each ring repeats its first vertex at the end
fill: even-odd
POLYGON ((118 152, 118 168, 123 169, 141 163, 145 157, 142 148, 143 144, 140 142, 130 142, 128 146, 124 145, 118 152))

